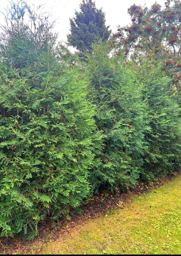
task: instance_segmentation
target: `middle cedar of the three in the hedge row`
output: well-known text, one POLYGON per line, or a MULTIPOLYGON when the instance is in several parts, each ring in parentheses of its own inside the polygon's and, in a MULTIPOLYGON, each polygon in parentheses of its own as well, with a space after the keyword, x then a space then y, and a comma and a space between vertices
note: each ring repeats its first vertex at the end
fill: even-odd
POLYGON ((89 98, 96 104, 96 125, 104 147, 96 155, 91 179, 94 189, 136 184, 147 152, 143 132, 147 105, 142 101, 139 80, 117 57, 108 58, 109 48, 96 45, 87 56, 89 98))

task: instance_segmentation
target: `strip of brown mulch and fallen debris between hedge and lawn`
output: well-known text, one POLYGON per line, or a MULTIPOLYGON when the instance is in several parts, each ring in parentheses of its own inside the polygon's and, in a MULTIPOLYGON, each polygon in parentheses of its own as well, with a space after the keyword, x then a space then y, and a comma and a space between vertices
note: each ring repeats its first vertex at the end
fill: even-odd
POLYGON ((135 188, 131 188, 129 193, 116 193, 112 194, 109 192, 107 197, 102 196, 102 193, 96 194, 93 200, 89 201, 87 204, 81 205, 80 214, 73 214, 70 220, 61 218, 57 223, 52 223, 46 221, 46 223, 39 224, 39 234, 32 241, 27 241, 22 237, 15 236, 14 238, 0 238, 0 254, 28 254, 30 248, 33 244, 42 241, 42 243, 47 243, 51 240, 57 240, 66 234, 69 234, 73 228, 85 223, 87 220, 92 220, 100 215, 104 215, 111 211, 111 209, 124 208, 121 206, 120 202, 130 203, 134 195, 142 195, 153 188, 158 188, 163 184, 167 183, 173 178, 174 175, 166 176, 164 179, 160 179, 157 182, 152 183, 142 183, 138 182, 135 188), (119 206, 120 205, 120 206, 119 206))

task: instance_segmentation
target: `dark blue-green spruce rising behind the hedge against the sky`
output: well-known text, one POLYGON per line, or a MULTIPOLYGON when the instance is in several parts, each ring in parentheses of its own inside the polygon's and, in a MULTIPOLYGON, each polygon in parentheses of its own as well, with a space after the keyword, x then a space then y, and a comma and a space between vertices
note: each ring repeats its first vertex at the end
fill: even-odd
POLYGON ((98 10, 92 0, 83 0, 80 4, 80 12, 70 19, 70 34, 68 42, 81 52, 90 52, 91 43, 98 40, 106 41, 111 33, 109 26, 105 25, 105 13, 102 8, 98 10))

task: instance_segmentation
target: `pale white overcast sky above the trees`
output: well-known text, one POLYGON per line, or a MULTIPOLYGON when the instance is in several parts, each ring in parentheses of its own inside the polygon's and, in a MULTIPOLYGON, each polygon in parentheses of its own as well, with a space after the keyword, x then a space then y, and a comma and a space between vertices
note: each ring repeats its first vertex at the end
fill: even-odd
MULTIPOLYGON (((16 0, 15 0, 16 1, 16 0)), ((157 0, 159 4, 165 6, 165 0, 157 0)), ((27 0, 27 3, 35 6, 45 4, 44 10, 52 15, 52 19, 56 19, 54 30, 59 33, 59 40, 66 41, 69 33, 69 18, 75 16, 75 9, 79 11, 79 4, 82 0, 27 0)), ((155 0, 95 0, 96 7, 105 12, 106 25, 110 25, 113 32, 116 31, 117 25, 125 26, 130 23, 130 16, 127 13, 128 8, 132 4, 144 5, 150 7, 155 0)), ((6 8, 8 0, 0 0, 0 11, 6 8)), ((2 22, 2 15, 0 15, 2 22)))

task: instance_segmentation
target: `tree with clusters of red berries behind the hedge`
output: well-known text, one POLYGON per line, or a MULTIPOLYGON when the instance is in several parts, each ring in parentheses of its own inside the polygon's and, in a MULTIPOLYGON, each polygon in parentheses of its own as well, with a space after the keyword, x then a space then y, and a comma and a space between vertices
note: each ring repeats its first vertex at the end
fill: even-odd
POLYGON ((161 62, 172 77, 172 89, 181 90, 181 2, 168 0, 164 8, 155 3, 150 10, 134 4, 128 13, 131 25, 119 27, 109 44, 124 49, 127 56, 134 52, 134 59, 139 61, 141 56, 150 58, 154 65, 161 62))

